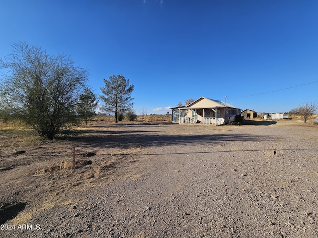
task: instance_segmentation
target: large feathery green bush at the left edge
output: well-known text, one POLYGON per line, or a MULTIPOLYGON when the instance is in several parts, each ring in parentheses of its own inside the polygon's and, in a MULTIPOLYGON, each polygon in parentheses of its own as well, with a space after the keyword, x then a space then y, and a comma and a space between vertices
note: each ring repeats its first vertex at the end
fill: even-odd
MULTIPOLYGON (((62 127, 84 115, 88 73, 67 56, 49 56, 40 47, 14 44, 13 53, 0 59, 7 74, 0 78, 0 117, 18 119, 40 136, 53 139, 62 127)), ((94 111, 92 108, 86 110, 94 111)))

